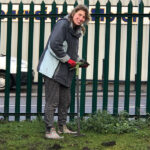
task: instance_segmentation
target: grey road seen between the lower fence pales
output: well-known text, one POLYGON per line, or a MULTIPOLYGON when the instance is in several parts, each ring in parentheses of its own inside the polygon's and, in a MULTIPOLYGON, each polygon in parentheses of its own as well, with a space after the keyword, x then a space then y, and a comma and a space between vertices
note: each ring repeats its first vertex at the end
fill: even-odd
MULTIPOLYGON (((37 87, 33 88, 32 91, 32 100, 31 100, 31 112, 36 113, 37 110, 37 87)), ((113 92, 108 93, 108 108, 107 110, 112 114, 113 113, 113 92)), ((14 113, 15 112, 15 89, 11 90, 10 93, 10 104, 9 104, 9 112, 14 113)), ((0 93, 0 112, 4 112, 4 93, 0 93)), ((98 92, 97 97, 97 110, 102 110, 102 101, 103 101, 103 94, 102 91, 98 92)), ((44 112, 44 105, 45 105, 45 94, 43 93, 43 99, 42 99, 42 112, 44 112)), ((75 104, 75 112, 77 106, 75 104)), ((124 109, 124 92, 119 92, 119 107, 118 111, 122 111, 124 109)), ((25 113, 26 111, 26 89, 22 89, 21 92, 21 99, 20 99, 20 112, 25 113)), ((86 93, 86 101, 85 101, 85 113, 91 113, 92 112, 92 92, 86 93)), ((134 115, 135 114, 135 92, 131 92, 130 94, 130 107, 129 107, 129 114, 134 115)), ((145 115, 146 114, 146 94, 142 93, 141 95, 141 105, 140 105, 140 114, 145 115)), ((2 118, 2 117, 0 117, 2 118)), ((35 117, 32 117, 35 118, 35 117)), ((25 117, 21 117, 21 120, 24 120, 25 117)), ((14 117, 11 116, 9 120, 14 120, 14 117)))

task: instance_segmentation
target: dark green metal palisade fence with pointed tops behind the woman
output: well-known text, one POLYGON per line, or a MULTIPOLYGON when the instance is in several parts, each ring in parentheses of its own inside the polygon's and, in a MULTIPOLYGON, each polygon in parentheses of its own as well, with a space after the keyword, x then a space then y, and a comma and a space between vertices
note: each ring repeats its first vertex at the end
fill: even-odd
MULTIPOLYGON (((85 4, 88 6, 88 0, 85 1, 85 4)), ((34 3, 30 4, 29 14, 25 14, 23 10, 23 3, 19 4, 19 11, 17 15, 12 14, 13 4, 10 2, 8 4, 7 14, 0 15, 0 28, 1 21, 4 18, 7 18, 7 46, 6 46, 6 88, 5 88, 5 97, 4 97, 4 112, 0 111, 0 115, 4 116, 5 119, 8 119, 9 116, 15 116, 15 120, 19 120, 20 116, 26 116, 26 119, 30 119, 33 115, 43 115, 42 113, 42 93, 43 93, 43 79, 42 75, 38 74, 38 90, 37 90, 37 112, 31 112, 31 101, 32 101, 32 62, 33 62, 33 32, 34 32, 34 18, 40 18, 40 35, 39 35, 39 57, 44 49, 44 32, 45 32, 45 18, 51 18, 51 28, 53 28, 57 17, 64 16, 67 14, 67 3, 63 4, 63 13, 57 14, 57 4, 52 3, 52 11, 50 14, 45 13, 45 3, 41 3, 41 12, 40 14, 34 14, 34 3), (15 112, 9 112, 10 104, 10 58, 11 58, 11 43, 12 39, 12 18, 18 18, 18 36, 17 36, 17 75, 16 75, 16 96, 15 96, 15 112), (26 111, 25 113, 20 112, 20 97, 21 97, 21 59, 22 59, 22 32, 23 32, 23 18, 29 18, 29 36, 28 36, 28 73, 27 73, 27 96, 26 96, 26 111)), ((74 6, 78 5, 75 2, 74 6)), ((124 91, 124 110, 129 112, 130 105, 130 72, 131 72, 131 44, 132 44, 132 19, 133 17, 138 17, 138 44, 137 44, 137 73, 136 73, 136 86, 135 86, 135 115, 140 114, 140 102, 141 102, 141 67, 142 67, 142 44, 143 44, 143 18, 149 17, 149 14, 144 14, 144 4, 141 1, 139 4, 139 13, 134 14, 132 1, 128 4, 128 13, 122 13, 122 3, 118 1, 117 3, 117 13, 111 13, 111 3, 110 1, 106 4, 106 13, 100 13, 100 2, 97 1, 95 5, 95 13, 91 14, 92 18, 95 21, 95 37, 94 37, 94 61, 93 61, 93 79, 92 79, 92 103, 91 109, 92 113, 97 111, 97 93, 98 93, 98 61, 99 61, 99 38, 100 37, 100 27, 101 22, 100 18, 104 17, 106 19, 105 23, 105 54, 103 60, 103 106, 102 110, 108 109, 108 86, 109 86, 109 59, 110 59, 110 20, 112 17, 117 18, 116 22, 116 43, 115 43, 115 76, 114 76, 114 91, 113 91, 113 114, 118 114, 118 103, 119 103, 119 72, 120 72, 120 43, 121 43, 121 18, 127 18, 127 43, 126 43, 126 74, 125 74, 125 91, 124 91)), ((1 4, 0 4, 1 12, 1 4)), ((150 28, 149 28, 150 31, 150 28)), ((82 58, 87 60, 87 46, 88 46, 88 26, 86 26, 86 34, 83 37, 82 43, 82 58)), ((150 33, 149 41, 150 43, 150 33)), ((149 45, 149 56, 148 56, 148 72, 147 72, 147 98, 146 98, 146 113, 150 113, 150 45, 149 45)), ((85 113, 85 102, 86 102, 86 69, 81 71, 81 90, 80 90, 80 115, 84 116, 85 113)), ((71 87, 71 106, 70 106, 70 116, 71 118, 75 115, 75 78, 72 82, 71 87)))

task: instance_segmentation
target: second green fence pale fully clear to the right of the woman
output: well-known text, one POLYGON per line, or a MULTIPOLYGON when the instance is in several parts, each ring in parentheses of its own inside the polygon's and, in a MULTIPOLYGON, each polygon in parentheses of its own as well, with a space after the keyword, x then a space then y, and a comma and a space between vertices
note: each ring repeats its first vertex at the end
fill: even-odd
MULTIPOLYGON (((106 4, 106 13, 110 14, 111 3, 106 4)), ((107 110, 108 104, 108 72, 109 72, 109 47, 110 47, 110 17, 106 18, 105 30, 105 63, 104 63, 104 87, 103 87, 103 110, 107 110)))

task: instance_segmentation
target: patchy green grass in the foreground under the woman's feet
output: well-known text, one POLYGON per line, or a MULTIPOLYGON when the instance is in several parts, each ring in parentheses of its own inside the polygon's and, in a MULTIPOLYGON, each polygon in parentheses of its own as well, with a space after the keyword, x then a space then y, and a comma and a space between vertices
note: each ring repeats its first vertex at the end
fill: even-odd
POLYGON ((0 121, 0 150, 150 150, 149 126, 128 133, 81 132, 85 136, 50 140, 44 138, 42 120, 0 121))

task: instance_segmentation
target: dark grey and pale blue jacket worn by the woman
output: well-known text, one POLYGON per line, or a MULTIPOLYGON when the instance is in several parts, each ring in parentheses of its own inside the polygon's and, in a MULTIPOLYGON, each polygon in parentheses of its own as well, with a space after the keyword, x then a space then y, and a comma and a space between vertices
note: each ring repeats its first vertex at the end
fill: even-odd
POLYGON ((75 70, 70 70, 67 61, 79 61, 78 46, 81 27, 73 29, 72 22, 65 17, 54 26, 43 51, 38 71, 58 83, 70 87, 75 70))

